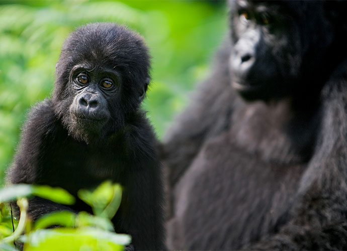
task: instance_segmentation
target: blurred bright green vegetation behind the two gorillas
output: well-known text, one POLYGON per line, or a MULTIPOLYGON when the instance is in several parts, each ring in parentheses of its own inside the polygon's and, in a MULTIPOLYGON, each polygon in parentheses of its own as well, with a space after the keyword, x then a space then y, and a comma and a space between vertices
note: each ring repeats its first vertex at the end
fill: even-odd
POLYGON ((140 33, 152 56, 143 106, 160 139, 206 77, 227 27, 224 1, 1 1, 0 187, 29 108, 51 95, 60 48, 74 28, 116 22, 140 33))

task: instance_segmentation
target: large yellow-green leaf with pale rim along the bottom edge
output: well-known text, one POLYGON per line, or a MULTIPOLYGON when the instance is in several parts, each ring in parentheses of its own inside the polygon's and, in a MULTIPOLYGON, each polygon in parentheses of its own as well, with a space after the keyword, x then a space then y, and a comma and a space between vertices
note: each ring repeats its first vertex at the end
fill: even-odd
POLYGON ((129 235, 90 227, 39 229, 29 234, 24 250, 123 250, 130 241, 129 235))

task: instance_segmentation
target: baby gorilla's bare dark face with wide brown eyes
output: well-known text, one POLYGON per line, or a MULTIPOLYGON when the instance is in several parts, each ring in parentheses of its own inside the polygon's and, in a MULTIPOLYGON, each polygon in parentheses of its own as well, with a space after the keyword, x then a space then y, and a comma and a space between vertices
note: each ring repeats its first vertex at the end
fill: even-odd
POLYGON ((69 106, 70 130, 78 132, 82 139, 105 135, 108 132, 107 122, 111 119, 108 100, 119 99, 117 71, 76 65, 70 73, 69 88, 74 92, 69 106))

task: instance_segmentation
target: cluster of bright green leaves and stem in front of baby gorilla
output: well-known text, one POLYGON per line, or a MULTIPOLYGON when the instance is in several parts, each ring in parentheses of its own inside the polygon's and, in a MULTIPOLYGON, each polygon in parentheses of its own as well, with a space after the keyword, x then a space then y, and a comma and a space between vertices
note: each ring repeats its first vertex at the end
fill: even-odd
POLYGON ((121 202, 121 187, 106 181, 94 191, 83 190, 79 194, 88 197, 83 198, 92 206, 93 211, 100 212, 99 216, 87 212, 76 214, 71 211, 56 211, 42 216, 32 225, 27 215, 27 197, 43 196, 66 204, 71 203, 72 195, 61 188, 24 184, 1 190, 0 249, 17 250, 13 242, 20 240, 24 242, 24 250, 123 250, 124 246, 130 243, 131 237, 113 232, 110 220, 110 216, 115 215, 121 202), (47 197, 47 194, 50 196, 47 197), (95 196, 99 196, 100 201, 95 196), (19 222, 14 220, 16 230, 13 232, 10 209, 5 201, 15 198, 21 216, 19 222), (113 207, 114 205, 116 207, 113 207), (59 227, 45 229, 50 226, 59 227))

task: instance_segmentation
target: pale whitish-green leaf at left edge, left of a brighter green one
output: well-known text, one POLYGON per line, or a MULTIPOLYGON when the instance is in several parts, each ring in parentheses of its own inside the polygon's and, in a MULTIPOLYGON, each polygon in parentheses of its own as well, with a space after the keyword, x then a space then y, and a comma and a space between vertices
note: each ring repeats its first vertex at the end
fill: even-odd
POLYGON ((32 195, 33 188, 28 184, 18 184, 5 187, 0 191, 0 203, 6 201, 17 200, 21 197, 32 195))

